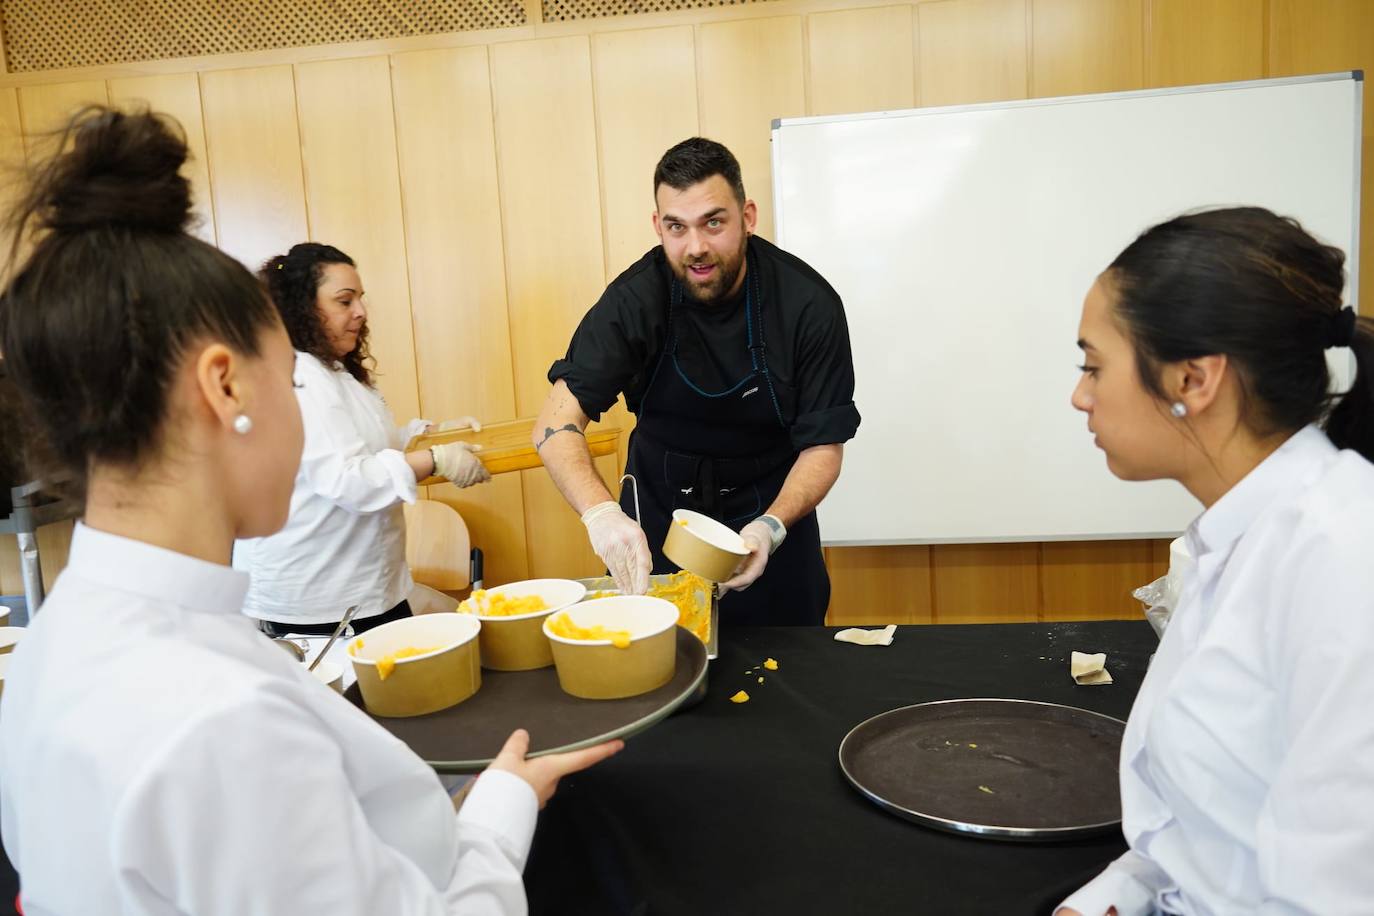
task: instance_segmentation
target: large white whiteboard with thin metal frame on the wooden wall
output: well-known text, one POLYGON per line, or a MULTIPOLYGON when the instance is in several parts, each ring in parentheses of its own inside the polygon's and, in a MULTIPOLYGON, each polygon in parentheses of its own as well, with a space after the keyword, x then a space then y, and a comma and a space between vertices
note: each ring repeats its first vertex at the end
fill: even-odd
POLYGON ((1360 88, 1342 73, 774 122, 778 242, 844 298, 863 415, 824 541, 1182 531, 1198 503, 1117 481, 1069 405, 1083 295, 1145 228, 1243 203, 1341 247, 1353 302, 1360 88))

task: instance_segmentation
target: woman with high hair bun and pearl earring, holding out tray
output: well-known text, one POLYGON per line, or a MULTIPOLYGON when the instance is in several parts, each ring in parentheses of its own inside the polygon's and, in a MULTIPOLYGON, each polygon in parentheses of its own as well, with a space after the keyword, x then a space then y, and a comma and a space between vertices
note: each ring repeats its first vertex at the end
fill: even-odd
POLYGON ((0 832, 23 909, 525 912, 537 808, 620 742, 526 761, 518 731, 455 814, 423 761, 258 632, 229 552, 287 518, 291 342, 258 282, 184 232, 168 122, 91 108, 63 140, 0 295, 47 470, 85 494, 5 677, 0 832))

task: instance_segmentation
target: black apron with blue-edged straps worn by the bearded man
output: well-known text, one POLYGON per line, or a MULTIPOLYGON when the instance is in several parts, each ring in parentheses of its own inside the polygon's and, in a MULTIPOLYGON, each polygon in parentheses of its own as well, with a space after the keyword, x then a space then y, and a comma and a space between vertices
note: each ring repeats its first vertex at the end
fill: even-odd
MULTIPOLYGON (((758 273, 750 258, 743 342, 750 371, 724 391, 703 390, 677 361, 683 290, 672 282, 668 339, 640 401, 625 463, 638 483, 639 520, 657 574, 677 571, 662 551, 673 509, 695 509, 739 530, 768 511, 797 460, 782 408, 791 391, 768 372, 758 273)), ((627 482, 620 497, 631 518, 633 489, 627 482)), ((811 512, 787 529, 787 538, 753 585, 721 599, 720 621, 721 626, 820 626, 829 604, 830 575, 816 514, 811 512)))

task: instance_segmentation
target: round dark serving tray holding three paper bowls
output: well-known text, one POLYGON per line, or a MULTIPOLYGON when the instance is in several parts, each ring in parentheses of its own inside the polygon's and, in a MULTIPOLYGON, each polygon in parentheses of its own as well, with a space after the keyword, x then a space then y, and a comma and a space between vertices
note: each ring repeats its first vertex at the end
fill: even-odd
MULTIPOLYGON (((705 687, 706 647, 679 626, 672 680, 639 696, 616 700, 569 696, 558 685, 552 666, 533 672, 482 669, 481 688, 458 706, 411 718, 372 718, 440 773, 475 773, 492 762, 517 728, 529 731, 530 757, 574 751, 642 732, 698 702, 705 687)), ((344 691, 344 696, 367 711, 357 684, 344 691)))

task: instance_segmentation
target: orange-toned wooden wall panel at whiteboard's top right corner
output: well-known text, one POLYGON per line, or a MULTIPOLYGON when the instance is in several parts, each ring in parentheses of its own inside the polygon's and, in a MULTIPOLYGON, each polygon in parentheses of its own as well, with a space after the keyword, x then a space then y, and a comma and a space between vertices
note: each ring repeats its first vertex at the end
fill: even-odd
POLYGON ((1360 187, 1359 309, 1374 314, 1374 3, 1270 0, 1270 76, 1364 70, 1364 158, 1360 187))

